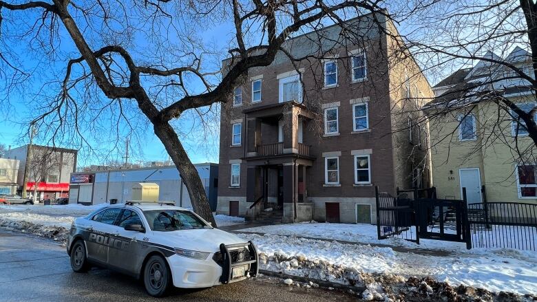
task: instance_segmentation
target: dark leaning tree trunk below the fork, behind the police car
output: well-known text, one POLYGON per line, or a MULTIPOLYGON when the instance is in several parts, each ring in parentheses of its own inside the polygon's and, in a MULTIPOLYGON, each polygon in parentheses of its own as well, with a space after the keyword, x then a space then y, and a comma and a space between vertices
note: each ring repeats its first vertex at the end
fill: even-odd
POLYGON ((176 134, 176 131, 169 125, 168 122, 154 123, 156 136, 160 138, 166 151, 176 165, 179 174, 187 186, 190 200, 194 212, 203 217, 203 219, 211 222, 216 227, 216 222, 209 206, 209 199, 205 193, 205 188, 201 182, 200 175, 196 170, 196 166, 192 164, 187 155, 187 152, 182 147, 181 142, 176 134))

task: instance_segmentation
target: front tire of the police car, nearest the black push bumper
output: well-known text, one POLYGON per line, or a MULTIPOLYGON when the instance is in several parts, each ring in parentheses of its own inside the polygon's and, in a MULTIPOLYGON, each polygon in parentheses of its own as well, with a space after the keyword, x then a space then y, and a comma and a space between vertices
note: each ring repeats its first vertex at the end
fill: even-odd
POLYGON ((165 296, 172 283, 171 270, 166 260, 157 255, 151 256, 145 263, 143 279, 148 294, 156 297, 165 296))

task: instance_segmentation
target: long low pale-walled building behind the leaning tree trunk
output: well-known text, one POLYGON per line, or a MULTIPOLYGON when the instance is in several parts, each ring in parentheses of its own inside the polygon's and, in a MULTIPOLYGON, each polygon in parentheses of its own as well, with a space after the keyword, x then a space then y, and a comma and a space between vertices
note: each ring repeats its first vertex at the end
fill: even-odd
MULTIPOLYGON (((218 164, 195 164, 209 198, 213 211, 216 210, 218 189, 218 164)), ((176 166, 157 166, 140 169, 115 169, 107 171, 78 172, 71 174, 70 204, 102 204, 115 199, 163 200, 189 208, 187 187, 176 166), (142 195, 153 191, 149 195, 142 195)))

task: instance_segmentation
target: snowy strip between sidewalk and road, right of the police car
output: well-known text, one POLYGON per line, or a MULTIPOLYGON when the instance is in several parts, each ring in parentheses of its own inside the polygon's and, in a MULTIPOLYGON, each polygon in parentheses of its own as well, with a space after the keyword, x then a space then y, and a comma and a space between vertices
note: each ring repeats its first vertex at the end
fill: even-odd
POLYGON ((307 259, 324 263, 322 270, 295 267, 291 261, 267 261, 264 269, 346 283, 352 273, 394 274, 403 277, 431 276, 450 285, 466 285, 491 292, 537 293, 537 257, 514 250, 490 251, 487 255, 448 257, 395 252, 392 248, 341 244, 279 235, 240 236, 253 240, 258 250, 273 258, 307 259), (329 265, 326 268, 326 265, 329 265), (336 266, 337 269, 331 268, 336 266), (341 273, 341 270, 346 271, 341 273), (312 275, 313 274, 313 275, 312 275))

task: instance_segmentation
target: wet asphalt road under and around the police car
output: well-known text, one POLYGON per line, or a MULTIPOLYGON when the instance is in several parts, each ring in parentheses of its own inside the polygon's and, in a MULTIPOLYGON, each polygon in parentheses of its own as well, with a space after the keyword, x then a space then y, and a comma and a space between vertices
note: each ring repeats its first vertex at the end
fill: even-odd
POLYGON ((141 281, 110 270, 72 272, 65 248, 50 239, 0 230, 0 301, 357 301, 356 296, 295 288, 259 278, 202 290, 148 296, 141 281))

